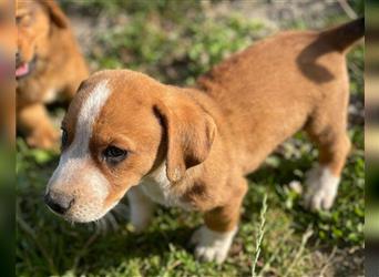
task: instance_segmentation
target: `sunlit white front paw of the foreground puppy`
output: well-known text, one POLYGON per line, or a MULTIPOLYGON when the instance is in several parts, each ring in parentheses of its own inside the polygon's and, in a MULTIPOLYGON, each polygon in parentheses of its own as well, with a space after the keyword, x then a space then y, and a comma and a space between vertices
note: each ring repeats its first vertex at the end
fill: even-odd
POLYGON ((195 244, 195 257, 204 261, 216 261, 222 264, 231 248, 237 228, 226 233, 208 229, 206 226, 199 227, 192 235, 191 243, 195 244))

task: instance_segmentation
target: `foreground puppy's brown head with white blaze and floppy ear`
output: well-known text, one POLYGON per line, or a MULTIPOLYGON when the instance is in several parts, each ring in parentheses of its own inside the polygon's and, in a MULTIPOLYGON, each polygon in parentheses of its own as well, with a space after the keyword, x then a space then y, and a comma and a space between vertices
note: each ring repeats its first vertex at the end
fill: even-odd
POLYGON ((62 123, 49 207, 69 220, 95 220, 163 162, 171 182, 204 162, 215 124, 182 94, 131 71, 103 71, 84 81, 62 123))

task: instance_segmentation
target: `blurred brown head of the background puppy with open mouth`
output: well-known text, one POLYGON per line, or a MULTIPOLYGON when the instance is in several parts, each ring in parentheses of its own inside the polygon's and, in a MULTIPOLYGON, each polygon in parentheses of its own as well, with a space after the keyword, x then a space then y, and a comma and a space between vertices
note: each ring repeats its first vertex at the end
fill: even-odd
POLYGON ((27 76, 38 59, 48 54, 49 38, 55 28, 66 28, 68 21, 53 0, 18 0, 16 10, 18 51, 16 78, 27 76))

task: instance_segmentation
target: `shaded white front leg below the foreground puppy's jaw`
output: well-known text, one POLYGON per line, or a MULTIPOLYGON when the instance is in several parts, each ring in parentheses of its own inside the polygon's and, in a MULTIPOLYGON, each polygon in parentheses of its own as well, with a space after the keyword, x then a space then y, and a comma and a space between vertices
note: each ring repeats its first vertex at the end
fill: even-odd
POLYGON ((126 195, 131 208, 131 223, 135 232, 140 233, 148 227, 155 211, 155 203, 139 186, 132 187, 126 195))

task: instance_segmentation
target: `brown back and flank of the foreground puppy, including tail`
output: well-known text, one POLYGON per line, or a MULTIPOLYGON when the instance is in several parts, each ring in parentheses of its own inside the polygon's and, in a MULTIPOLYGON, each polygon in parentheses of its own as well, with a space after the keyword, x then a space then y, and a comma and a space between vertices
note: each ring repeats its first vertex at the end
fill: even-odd
POLYGON ((346 50, 362 34, 361 20, 322 32, 283 32, 199 78, 231 122, 246 171, 301 129, 317 104, 341 96, 348 85, 346 50))

